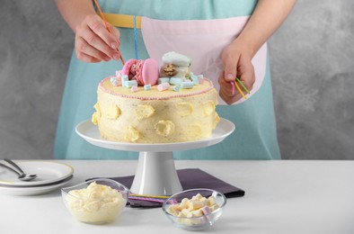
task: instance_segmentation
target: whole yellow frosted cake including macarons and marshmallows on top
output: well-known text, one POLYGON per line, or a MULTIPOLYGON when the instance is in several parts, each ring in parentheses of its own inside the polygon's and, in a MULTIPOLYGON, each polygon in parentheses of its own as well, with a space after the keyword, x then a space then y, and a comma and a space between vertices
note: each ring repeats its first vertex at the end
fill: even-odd
POLYGON ((190 58, 168 52, 163 64, 129 59, 98 85, 92 121, 103 139, 172 143, 206 139, 216 128, 217 90, 190 72, 190 58))

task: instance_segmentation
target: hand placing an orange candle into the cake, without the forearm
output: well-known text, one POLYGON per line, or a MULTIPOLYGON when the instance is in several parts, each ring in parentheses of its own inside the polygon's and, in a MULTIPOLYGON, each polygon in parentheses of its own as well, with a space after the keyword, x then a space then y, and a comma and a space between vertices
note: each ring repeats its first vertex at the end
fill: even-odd
POLYGON ((88 14, 75 28, 76 57, 84 62, 119 60, 119 30, 108 24, 97 14, 88 14))

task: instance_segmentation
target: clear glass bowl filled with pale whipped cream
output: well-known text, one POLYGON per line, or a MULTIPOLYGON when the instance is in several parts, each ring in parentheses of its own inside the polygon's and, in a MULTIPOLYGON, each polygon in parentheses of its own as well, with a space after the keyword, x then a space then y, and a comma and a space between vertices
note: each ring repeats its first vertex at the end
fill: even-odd
POLYGON ((93 179, 61 189, 71 215, 91 224, 116 220, 127 204, 128 193, 126 186, 111 179, 93 179))

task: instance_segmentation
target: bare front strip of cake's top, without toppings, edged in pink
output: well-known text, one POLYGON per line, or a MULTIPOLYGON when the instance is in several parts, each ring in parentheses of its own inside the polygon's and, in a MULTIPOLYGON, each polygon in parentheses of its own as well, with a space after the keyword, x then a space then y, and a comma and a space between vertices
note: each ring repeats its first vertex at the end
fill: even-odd
POLYGON ((158 85, 152 85, 151 89, 145 90, 144 86, 138 86, 136 92, 131 92, 129 88, 124 86, 115 86, 111 84, 111 77, 102 79, 98 88, 103 92, 120 96, 124 98, 134 98, 140 100, 167 100, 178 97, 188 97, 197 94, 205 94, 214 89, 214 85, 208 78, 202 78, 203 82, 194 85, 191 89, 181 89, 179 92, 173 91, 173 85, 164 91, 157 89, 158 85))

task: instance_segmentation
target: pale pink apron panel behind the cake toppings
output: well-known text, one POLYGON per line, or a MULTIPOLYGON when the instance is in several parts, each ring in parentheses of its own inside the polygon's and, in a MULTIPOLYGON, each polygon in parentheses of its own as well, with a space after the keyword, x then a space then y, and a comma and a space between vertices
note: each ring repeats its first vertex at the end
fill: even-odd
MULTIPOLYGON (((168 51, 176 51, 191 58, 191 71, 211 79, 219 90, 217 79, 223 71, 222 50, 235 40, 243 30, 249 16, 215 20, 161 21, 142 17, 141 31, 150 58, 162 64, 161 58, 168 51)), ((255 83, 251 94, 261 87, 265 76, 267 44, 252 58, 255 83)), ((226 104, 218 97, 219 104, 226 104)), ((234 104, 243 103, 242 98, 234 104)))

